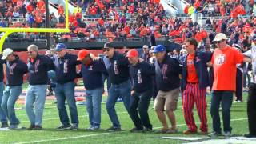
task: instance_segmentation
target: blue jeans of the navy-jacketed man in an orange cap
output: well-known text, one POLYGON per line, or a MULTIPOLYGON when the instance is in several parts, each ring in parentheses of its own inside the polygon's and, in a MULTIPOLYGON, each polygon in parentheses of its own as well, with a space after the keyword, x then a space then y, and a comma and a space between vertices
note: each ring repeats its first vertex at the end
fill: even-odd
POLYGON ((89 114, 90 126, 101 125, 102 90, 103 87, 94 90, 86 90, 86 106, 89 114))

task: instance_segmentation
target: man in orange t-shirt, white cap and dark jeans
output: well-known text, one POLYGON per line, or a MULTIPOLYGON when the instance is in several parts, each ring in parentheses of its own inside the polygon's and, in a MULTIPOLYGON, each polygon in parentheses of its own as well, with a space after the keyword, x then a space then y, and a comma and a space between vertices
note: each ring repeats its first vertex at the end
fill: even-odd
POLYGON ((213 119, 213 133, 210 137, 222 134, 219 118, 219 105, 222 103, 222 116, 224 136, 230 137, 230 108, 233 101, 234 90, 236 89, 236 65, 242 62, 250 62, 250 58, 244 58, 242 53, 226 44, 225 34, 219 33, 215 36, 214 42, 218 46, 214 50, 211 64, 214 68, 213 93, 210 106, 210 114, 213 119))

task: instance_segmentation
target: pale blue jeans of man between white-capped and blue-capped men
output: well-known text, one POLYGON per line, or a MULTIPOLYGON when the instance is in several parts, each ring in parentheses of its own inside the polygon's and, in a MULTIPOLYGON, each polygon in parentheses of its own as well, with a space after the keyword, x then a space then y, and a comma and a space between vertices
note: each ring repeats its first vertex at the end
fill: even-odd
POLYGON ((26 114, 32 125, 42 126, 46 87, 46 85, 29 85, 26 91, 26 114))

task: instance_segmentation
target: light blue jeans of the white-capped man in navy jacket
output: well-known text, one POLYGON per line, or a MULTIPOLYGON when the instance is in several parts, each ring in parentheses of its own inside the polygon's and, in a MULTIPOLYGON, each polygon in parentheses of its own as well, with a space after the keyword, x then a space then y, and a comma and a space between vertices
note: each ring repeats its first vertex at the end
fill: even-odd
POLYGON ((3 92, 1 107, 10 121, 10 125, 20 123, 14 110, 15 102, 20 94, 22 94, 22 86, 6 86, 6 90, 3 92))

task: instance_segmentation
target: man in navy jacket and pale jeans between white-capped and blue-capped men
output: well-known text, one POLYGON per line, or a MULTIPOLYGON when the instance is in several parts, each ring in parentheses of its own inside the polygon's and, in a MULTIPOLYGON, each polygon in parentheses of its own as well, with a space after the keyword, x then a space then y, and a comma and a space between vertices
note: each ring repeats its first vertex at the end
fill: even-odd
POLYGON ((46 102, 46 88, 48 70, 54 69, 54 63, 46 55, 38 54, 38 46, 30 45, 27 48, 28 59, 28 82, 26 91, 26 114, 30 119, 28 130, 42 129, 42 115, 46 102))

